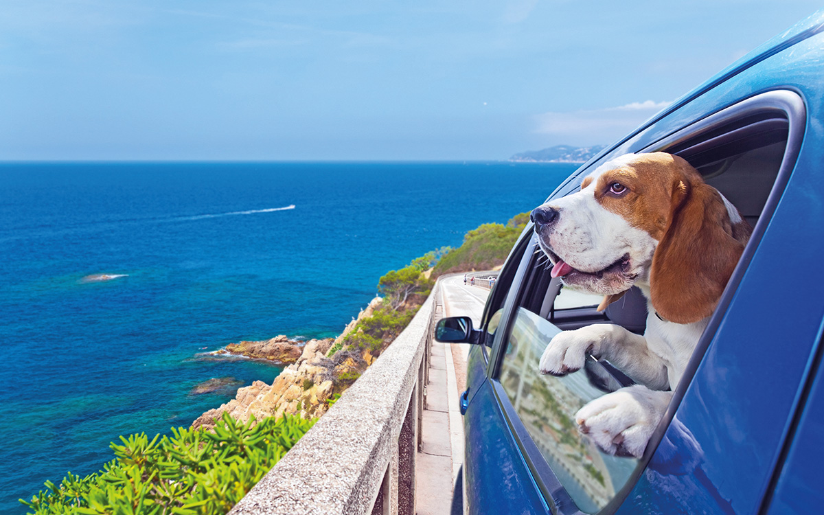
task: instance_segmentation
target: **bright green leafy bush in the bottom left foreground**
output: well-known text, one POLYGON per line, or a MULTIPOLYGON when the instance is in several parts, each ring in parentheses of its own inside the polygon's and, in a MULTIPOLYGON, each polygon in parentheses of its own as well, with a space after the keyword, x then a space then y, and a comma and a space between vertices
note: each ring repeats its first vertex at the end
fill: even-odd
POLYGON ((172 428, 172 437, 146 433, 112 443, 115 459, 81 478, 71 472, 60 485, 46 481, 29 513, 129 513, 197 515, 227 513, 316 419, 284 416, 243 424, 223 415, 214 433, 172 428))

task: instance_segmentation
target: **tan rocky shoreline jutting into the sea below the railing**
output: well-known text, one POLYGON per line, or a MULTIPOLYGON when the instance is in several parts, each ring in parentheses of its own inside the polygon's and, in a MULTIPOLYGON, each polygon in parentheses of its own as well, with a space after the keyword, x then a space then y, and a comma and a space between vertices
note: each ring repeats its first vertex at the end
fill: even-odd
POLYGON ((228 344, 226 349, 216 351, 213 354, 242 355, 291 364, 275 377, 271 385, 255 381, 238 389, 234 399, 200 415, 192 427, 213 428, 215 420, 223 413, 243 422, 251 417, 260 420, 282 414, 307 419, 321 416, 329 410, 335 394, 344 391, 375 360, 368 350, 344 349, 341 344, 358 321, 372 316, 381 302, 380 297, 374 298, 336 339, 302 342, 279 335, 267 340, 228 344))

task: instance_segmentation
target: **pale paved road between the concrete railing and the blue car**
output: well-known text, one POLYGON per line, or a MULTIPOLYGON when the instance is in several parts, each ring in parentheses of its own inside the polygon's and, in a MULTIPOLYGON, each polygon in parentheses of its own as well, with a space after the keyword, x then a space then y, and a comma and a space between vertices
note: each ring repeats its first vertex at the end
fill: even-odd
MULTIPOLYGON (((438 294, 443 316, 469 316, 473 325, 480 325, 488 289, 464 285, 461 274, 441 279, 438 294)), ((452 489, 464 457, 463 416, 458 396, 466 390, 469 349, 469 344, 432 343, 421 434, 423 452, 419 452, 415 465, 417 515, 450 513, 452 489)))

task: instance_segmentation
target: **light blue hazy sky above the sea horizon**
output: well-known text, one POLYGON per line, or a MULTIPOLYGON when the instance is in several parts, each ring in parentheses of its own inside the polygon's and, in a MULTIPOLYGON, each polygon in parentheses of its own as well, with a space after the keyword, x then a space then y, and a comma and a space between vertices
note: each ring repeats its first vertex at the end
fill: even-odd
POLYGON ((0 160, 611 143, 820 5, 0 0, 0 160))

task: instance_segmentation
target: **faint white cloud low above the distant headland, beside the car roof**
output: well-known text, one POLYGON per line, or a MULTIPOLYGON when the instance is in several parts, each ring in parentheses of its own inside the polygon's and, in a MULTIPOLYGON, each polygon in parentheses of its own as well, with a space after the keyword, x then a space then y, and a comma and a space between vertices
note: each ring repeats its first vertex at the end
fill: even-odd
POLYGON ((536 133, 562 136, 569 143, 609 143, 642 124, 670 102, 632 102, 599 110, 536 115, 536 133))

